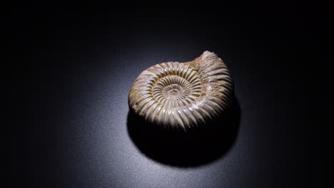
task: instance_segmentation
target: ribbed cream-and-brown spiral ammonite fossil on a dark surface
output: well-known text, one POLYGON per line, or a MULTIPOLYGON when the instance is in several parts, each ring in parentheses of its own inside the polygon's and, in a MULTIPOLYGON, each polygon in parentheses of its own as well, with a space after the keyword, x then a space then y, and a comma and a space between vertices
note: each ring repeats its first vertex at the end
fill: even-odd
POLYGON ((128 104, 148 122, 188 130, 227 110, 233 87, 225 63, 205 51, 187 63, 159 63, 143 71, 132 85, 128 104))

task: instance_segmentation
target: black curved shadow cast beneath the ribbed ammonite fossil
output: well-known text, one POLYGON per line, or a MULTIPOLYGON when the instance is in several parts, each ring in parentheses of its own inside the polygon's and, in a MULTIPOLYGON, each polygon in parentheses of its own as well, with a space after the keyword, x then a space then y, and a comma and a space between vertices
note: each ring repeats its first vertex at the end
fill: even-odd
POLYGON ((241 110, 238 100, 218 119, 196 130, 170 131, 148 124, 131 110, 128 135, 146 156, 178 167, 196 167, 223 157, 238 136, 241 110))

